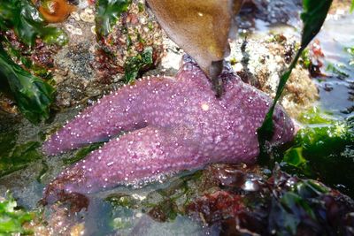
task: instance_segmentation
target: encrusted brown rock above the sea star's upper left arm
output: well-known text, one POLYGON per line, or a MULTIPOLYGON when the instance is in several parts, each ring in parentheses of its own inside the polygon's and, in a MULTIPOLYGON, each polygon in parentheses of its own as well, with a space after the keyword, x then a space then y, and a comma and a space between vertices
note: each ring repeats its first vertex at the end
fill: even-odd
POLYGON ((90 98, 96 99, 121 86, 128 56, 134 57, 146 47, 154 49, 154 64, 158 64, 160 29, 153 16, 140 11, 138 4, 143 3, 134 1, 129 6, 104 40, 97 39, 93 5, 73 12, 63 23, 71 38, 54 56, 59 108, 85 104, 90 98), (123 34, 123 30, 127 32, 123 34))

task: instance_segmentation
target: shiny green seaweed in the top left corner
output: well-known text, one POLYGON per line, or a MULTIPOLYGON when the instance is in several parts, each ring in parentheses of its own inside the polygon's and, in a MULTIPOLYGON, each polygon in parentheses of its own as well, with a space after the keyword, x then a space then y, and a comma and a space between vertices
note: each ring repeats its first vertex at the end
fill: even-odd
POLYGON ((0 4, 0 30, 13 29, 21 42, 34 46, 38 37, 49 44, 64 45, 68 41, 63 30, 46 25, 30 1, 4 0, 0 4))

